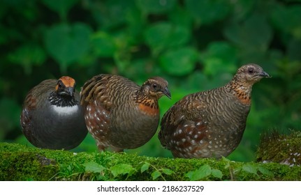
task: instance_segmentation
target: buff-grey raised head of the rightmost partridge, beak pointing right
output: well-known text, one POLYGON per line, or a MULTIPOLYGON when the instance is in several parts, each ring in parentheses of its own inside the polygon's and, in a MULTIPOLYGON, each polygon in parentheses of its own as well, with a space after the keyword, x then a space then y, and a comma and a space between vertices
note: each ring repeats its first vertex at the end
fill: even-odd
POLYGON ((270 75, 263 71, 263 68, 261 68, 259 65, 249 63, 247 65, 242 65, 242 67, 237 70, 234 79, 236 81, 252 85, 264 77, 268 78, 270 75))

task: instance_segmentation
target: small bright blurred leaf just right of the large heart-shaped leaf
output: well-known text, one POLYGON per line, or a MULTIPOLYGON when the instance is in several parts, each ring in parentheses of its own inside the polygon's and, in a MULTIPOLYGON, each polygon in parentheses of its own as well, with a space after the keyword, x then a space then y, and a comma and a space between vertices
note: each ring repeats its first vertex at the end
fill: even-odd
POLYGON ((96 55, 101 57, 114 56, 117 49, 114 38, 103 31, 96 32, 91 38, 91 43, 96 55))

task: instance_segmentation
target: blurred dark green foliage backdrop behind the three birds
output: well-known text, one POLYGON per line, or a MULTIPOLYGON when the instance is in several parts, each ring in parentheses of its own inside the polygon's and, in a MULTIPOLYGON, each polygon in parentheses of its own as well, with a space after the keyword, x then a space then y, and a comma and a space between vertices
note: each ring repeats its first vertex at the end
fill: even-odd
MULTIPOLYGON (((229 158, 255 159, 260 134, 300 130, 301 1, 1 0, 0 141, 24 143, 20 112, 44 79, 69 75, 78 89, 112 73, 142 84, 168 80, 172 100, 226 84, 237 68, 258 63, 272 78, 254 85, 240 146, 229 158)), ((73 151, 95 152, 88 134, 73 151)), ((127 153, 172 157, 157 135, 127 153)))

